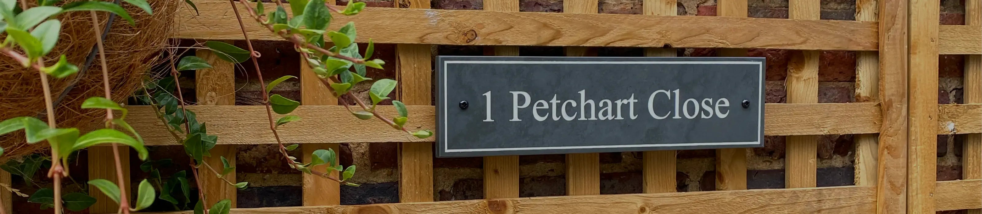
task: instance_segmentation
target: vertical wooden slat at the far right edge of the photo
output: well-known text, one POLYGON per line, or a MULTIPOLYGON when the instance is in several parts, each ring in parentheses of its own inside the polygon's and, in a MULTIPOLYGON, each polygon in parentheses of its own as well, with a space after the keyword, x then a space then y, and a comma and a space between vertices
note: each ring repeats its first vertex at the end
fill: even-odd
MULTIPOLYGON (((982 27, 982 1, 965 1, 965 24, 982 27)), ((982 55, 965 56, 965 103, 982 103, 982 55)), ((962 178, 982 179, 982 134, 965 136, 961 155, 962 178)), ((970 209, 968 214, 982 214, 982 209, 970 209)))

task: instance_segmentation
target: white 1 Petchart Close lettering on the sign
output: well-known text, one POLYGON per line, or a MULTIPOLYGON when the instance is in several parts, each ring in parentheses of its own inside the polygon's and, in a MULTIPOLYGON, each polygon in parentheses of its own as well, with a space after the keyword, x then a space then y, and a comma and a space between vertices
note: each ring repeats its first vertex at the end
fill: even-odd
MULTIPOLYGON (((545 120, 620 120, 637 119, 634 104, 638 103, 634 94, 624 94, 620 99, 588 98, 586 90, 580 90, 573 95, 572 100, 559 99, 560 94, 552 94, 547 99, 534 100, 533 95, 523 91, 510 91, 512 115, 508 121, 545 120), (549 98, 551 97, 551 98, 549 98), (597 100, 595 100, 597 99, 597 100), (521 118, 521 115, 531 114, 531 118, 521 118), (530 112, 529 112, 530 111, 530 112)), ((657 90, 647 94, 647 112, 654 119, 710 119, 726 118, 730 114, 730 99, 727 98, 685 98, 679 89, 657 90), (662 107, 659 104, 668 103, 672 107, 662 107)), ((485 122, 495 121, 491 115, 491 91, 484 94, 485 122)))

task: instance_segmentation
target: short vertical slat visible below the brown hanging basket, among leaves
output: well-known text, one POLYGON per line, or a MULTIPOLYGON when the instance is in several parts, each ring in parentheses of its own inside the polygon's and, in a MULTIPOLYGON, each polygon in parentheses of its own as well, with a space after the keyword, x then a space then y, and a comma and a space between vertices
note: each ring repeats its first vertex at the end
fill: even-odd
MULTIPOLYGON (((123 183, 127 185, 127 190, 130 189, 132 183, 130 183, 130 148, 119 147, 120 160, 123 164, 123 183)), ((87 149, 88 152, 88 180, 95 179, 105 179, 117 184, 118 177, 116 176, 116 160, 113 156, 112 147, 90 147, 87 149)), ((8 175, 9 178, 9 175, 8 175)), ((9 181, 9 180, 8 180, 9 181)), ((0 181, 3 183, 3 181, 0 181)), ((6 184, 10 184, 9 182, 6 184)), ((4 191, 4 193, 8 193, 4 191)), ((102 213, 116 213, 119 210, 120 205, 109 199, 105 193, 99 191, 99 189, 90 188, 88 189, 88 195, 95 197, 95 204, 92 204, 88 208, 88 212, 92 214, 102 214, 102 213)), ((135 198, 133 192, 127 192, 130 198, 135 198)), ((5 197, 9 198, 9 197, 5 197)), ((132 200, 131 200, 132 201, 132 200)), ((6 205, 6 204, 5 204, 6 205)), ((6 206, 9 207, 9 206, 6 206)), ((9 213, 9 212, 8 212, 9 213)))

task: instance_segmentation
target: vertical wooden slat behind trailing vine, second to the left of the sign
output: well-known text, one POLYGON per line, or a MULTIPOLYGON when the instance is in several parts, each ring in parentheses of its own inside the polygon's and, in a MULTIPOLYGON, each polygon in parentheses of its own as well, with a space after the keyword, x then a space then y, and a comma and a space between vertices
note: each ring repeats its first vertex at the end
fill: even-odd
MULTIPOLYGON (((331 91, 320 82, 317 74, 306 64, 306 60, 300 59, 300 101, 302 105, 312 106, 336 106, 338 98, 331 95, 331 91)), ((287 126, 284 126, 286 128, 287 126)), ((335 150, 341 151, 341 144, 303 144, 300 145, 301 158, 303 162, 309 163, 313 158, 314 150, 335 150)), ((335 161, 341 161, 341 156, 335 157, 335 161)), ((327 165, 314 166, 313 170, 327 172, 327 165)), ((331 170, 331 175, 337 177, 338 171, 331 170)), ((302 204, 304 206, 336 205, 341 204, 341 185, 338 182, 324 179, 319 176, 301 174, 302 185, 302 204)))

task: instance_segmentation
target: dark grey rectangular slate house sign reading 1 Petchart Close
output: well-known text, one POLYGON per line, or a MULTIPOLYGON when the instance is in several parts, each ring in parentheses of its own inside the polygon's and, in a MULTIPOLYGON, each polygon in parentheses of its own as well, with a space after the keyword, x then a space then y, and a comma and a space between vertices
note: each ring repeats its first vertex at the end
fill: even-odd
POLYGON ((437 57, 437 155, 753 148, 763 58, 437 57))

